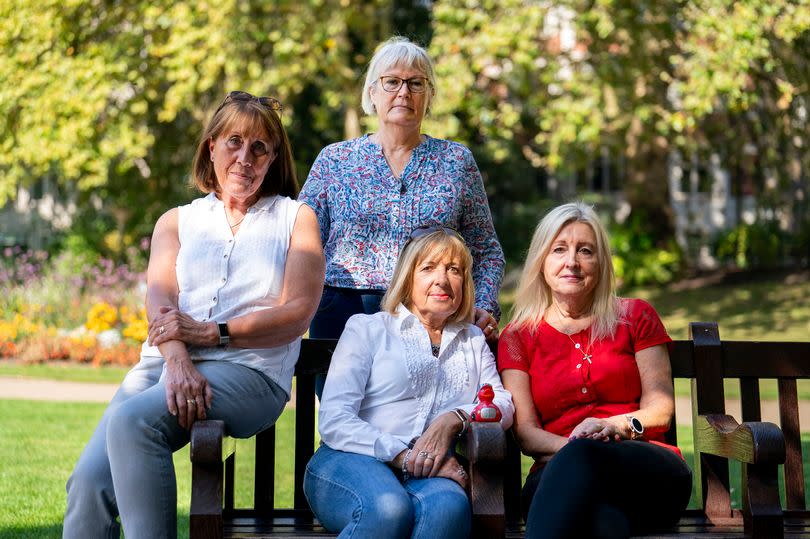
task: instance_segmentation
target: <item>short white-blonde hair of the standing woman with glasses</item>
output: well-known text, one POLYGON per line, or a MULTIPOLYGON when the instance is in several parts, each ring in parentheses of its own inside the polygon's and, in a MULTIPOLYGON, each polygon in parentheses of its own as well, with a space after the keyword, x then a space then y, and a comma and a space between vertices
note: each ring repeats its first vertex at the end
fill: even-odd
POLYGON ((413 43, 408 38, 394 36, 387 41, 383 41, 371 61, 366 71, 366 82, 363 84, 362 104, 363 111, 369 116, 377 113, 374 103, 371 101, 371 87, 377 84, 382 73, 394 66, 408 66, 418 69, 428 80, 429 88, 426 90, 425 113, 430 112, 430 104, 436 94, 436 74, 433 69, 433 60, 428 56, 427 51, 413 43))

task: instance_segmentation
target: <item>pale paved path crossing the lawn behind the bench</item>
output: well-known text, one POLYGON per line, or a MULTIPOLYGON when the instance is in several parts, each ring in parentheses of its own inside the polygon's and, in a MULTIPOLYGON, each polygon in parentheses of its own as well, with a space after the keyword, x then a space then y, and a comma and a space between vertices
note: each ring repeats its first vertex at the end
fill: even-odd
MULTIPOLYGON (((116 384, 91 384, 79 382, 59 382, 34 378, 0 376, 0 399, 27 399, 48 401, 109 402, 116 384)), ((726 410, 736 418, 740 417, 740 402, 726 401, 726 410)), ((678 423, 689 425, 692 405, 688 398, 675 399, 675 414, 678 423)), ((810 402, 799 401, 800 424, 810 426, 810 402)), ((774 401, 765 401, 762 406, 763 421, 779 424, 779 408, 774 401)))

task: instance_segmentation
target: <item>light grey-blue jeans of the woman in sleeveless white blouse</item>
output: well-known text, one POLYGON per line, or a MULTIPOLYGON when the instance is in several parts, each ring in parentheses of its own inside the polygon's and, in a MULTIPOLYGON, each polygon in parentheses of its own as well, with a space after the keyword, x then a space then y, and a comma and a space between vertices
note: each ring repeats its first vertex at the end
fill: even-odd
MULTIPOLYGON (((226 361, 195 363, 213 391, 209 419, 247 438, 272 425, 287 395, 264 375, 226 361)), ((63 537, 127 539, 177 536, 172 453, 189 431, 169 413, 163 359, 144 358, 124 378, 67 482, 63 537)))

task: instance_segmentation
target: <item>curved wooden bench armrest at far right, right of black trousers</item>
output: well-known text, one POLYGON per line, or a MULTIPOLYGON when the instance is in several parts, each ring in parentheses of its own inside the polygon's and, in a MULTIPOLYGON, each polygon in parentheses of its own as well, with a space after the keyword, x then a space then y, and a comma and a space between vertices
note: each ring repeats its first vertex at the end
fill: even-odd
POLYGON ((695 450, 747 464, 784 464, 785 437, 773 423, 737 423, 727 414, 695 419, 695 450))

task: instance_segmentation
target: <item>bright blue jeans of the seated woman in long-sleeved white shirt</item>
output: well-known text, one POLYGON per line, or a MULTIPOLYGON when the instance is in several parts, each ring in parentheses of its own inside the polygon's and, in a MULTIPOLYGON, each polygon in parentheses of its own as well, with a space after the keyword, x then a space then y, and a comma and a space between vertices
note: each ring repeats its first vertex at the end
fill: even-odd
POLYGON ((444 477, 402 482, 385 463, 326 445, 312 456, 304 493, 338 537, 464 538, 472 518, 467 494, 444 477))

